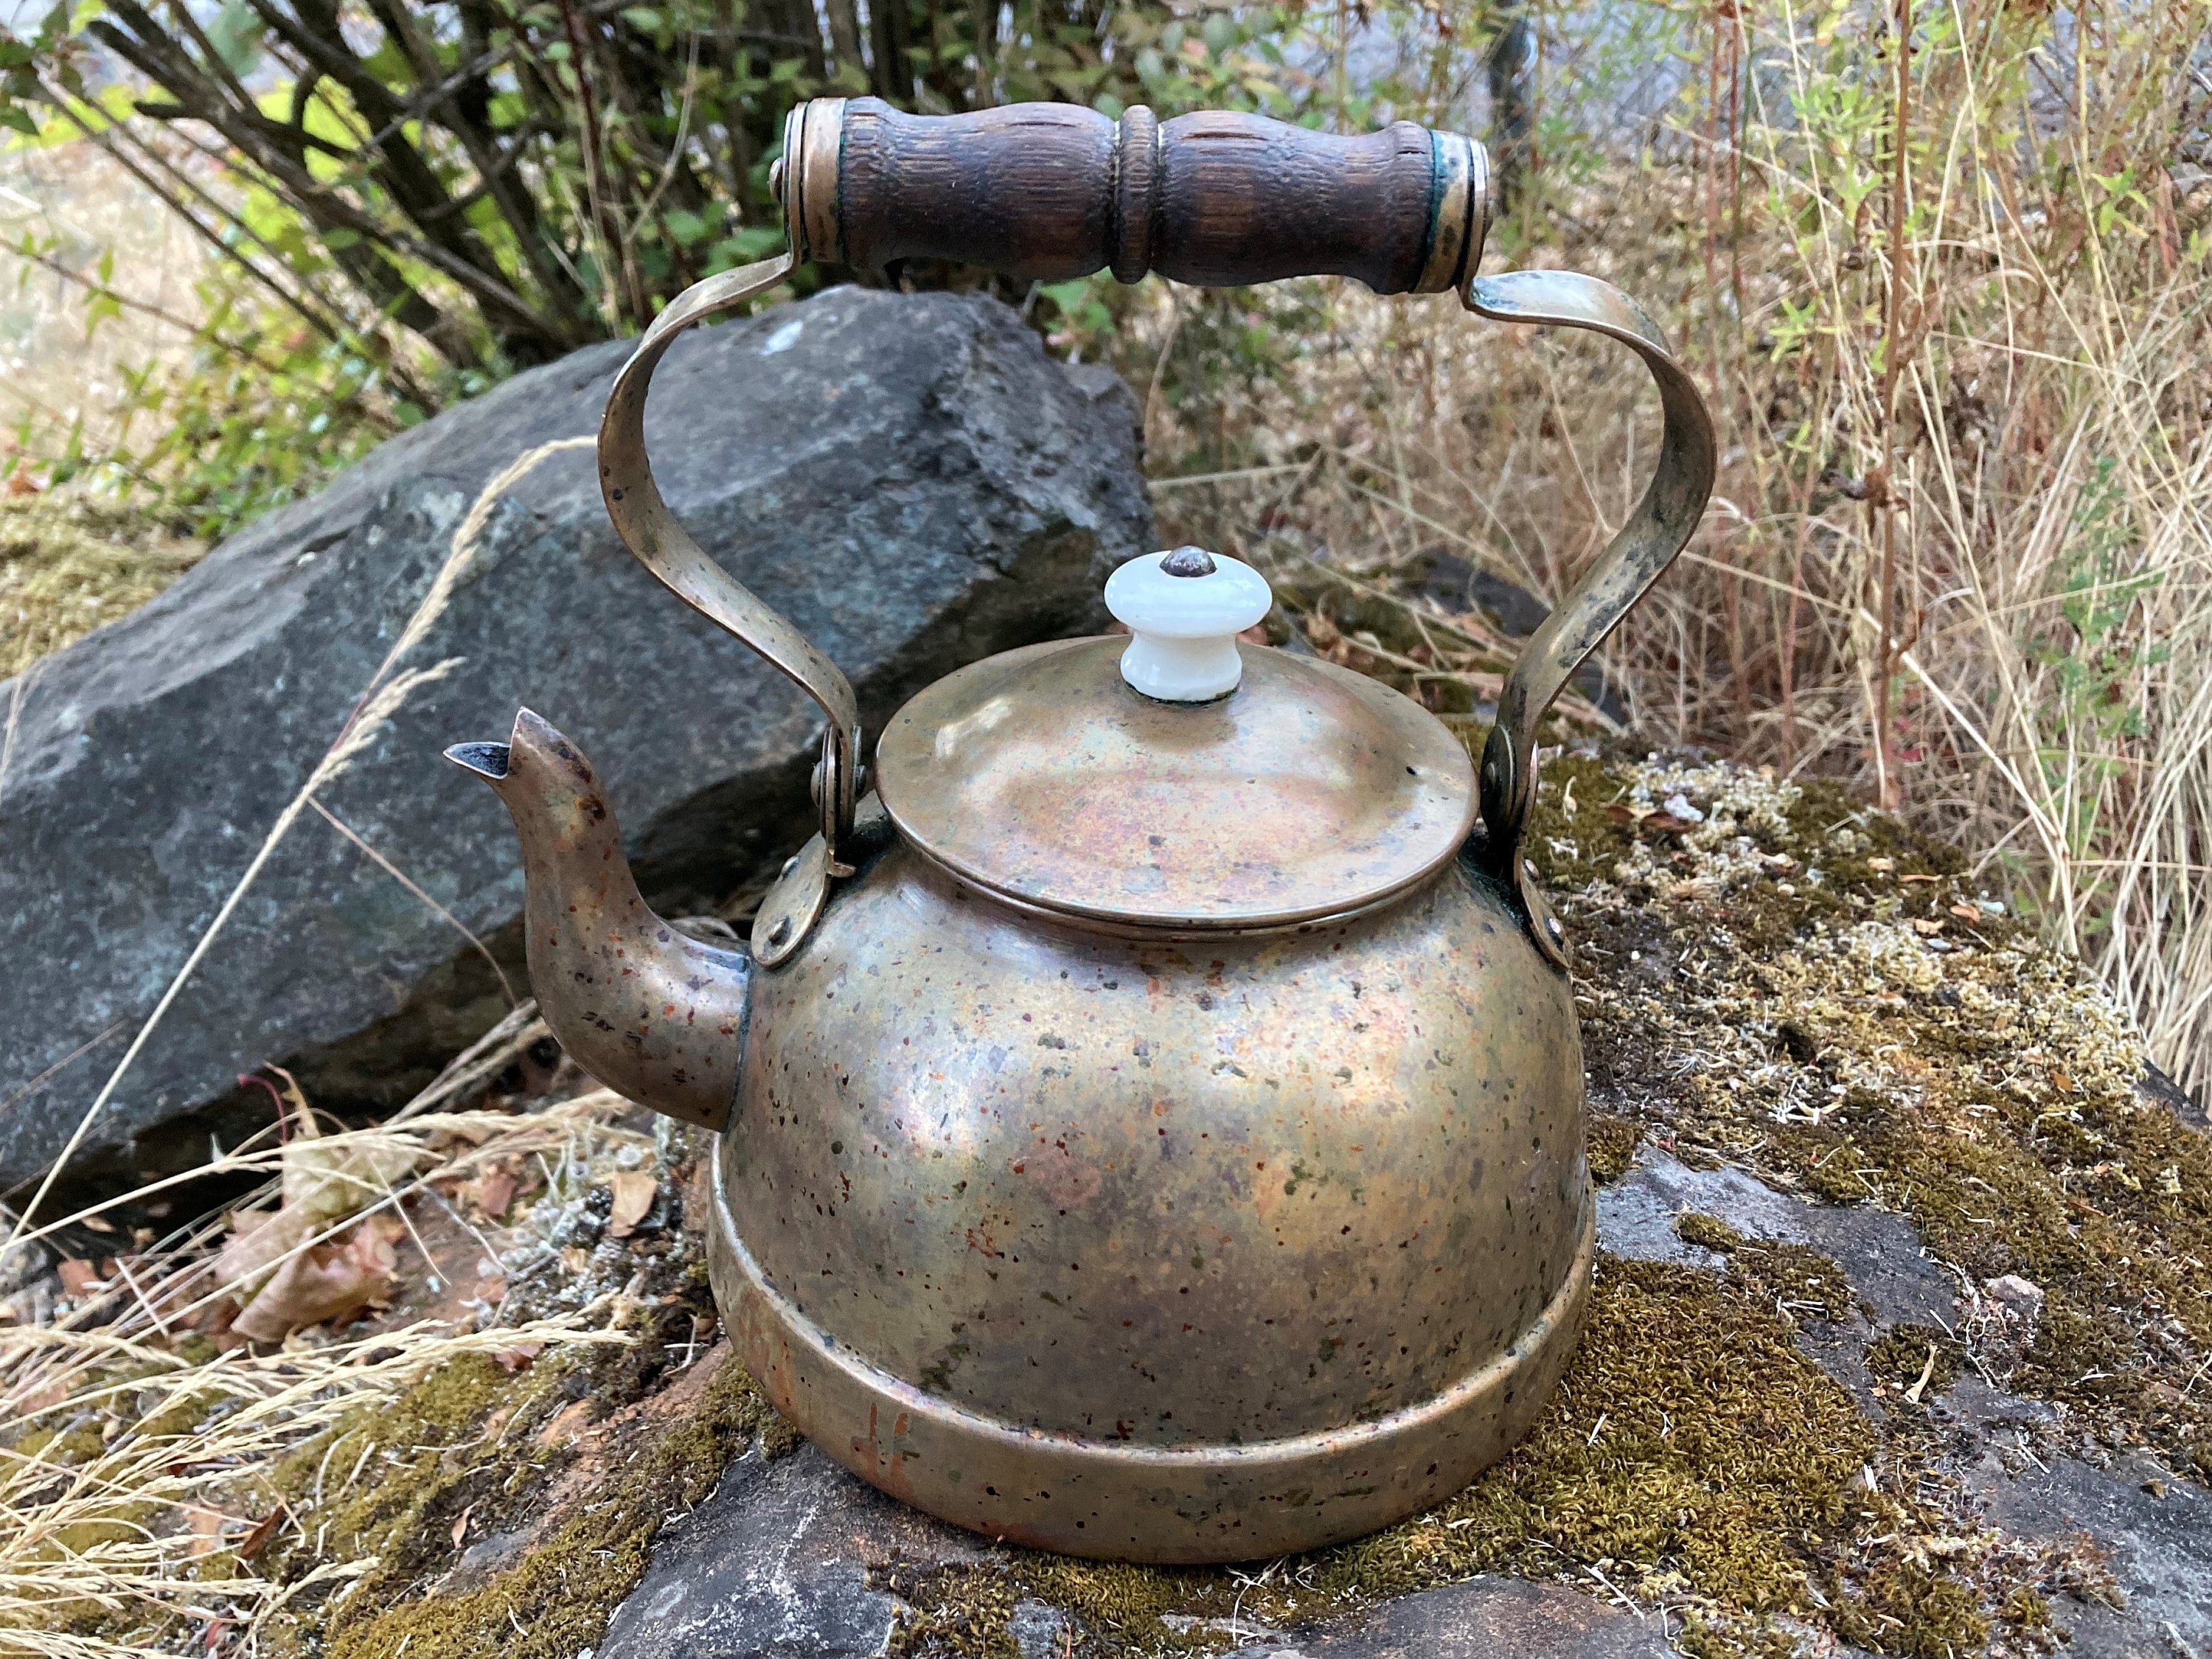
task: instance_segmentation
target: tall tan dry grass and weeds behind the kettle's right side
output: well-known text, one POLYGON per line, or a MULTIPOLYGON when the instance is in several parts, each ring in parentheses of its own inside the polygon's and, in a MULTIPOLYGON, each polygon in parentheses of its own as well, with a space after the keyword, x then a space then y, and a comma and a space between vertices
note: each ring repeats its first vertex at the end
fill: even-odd
MULTIPOLYGON (((1955 841, 2203 1091, 2212 4, 1670 15, 1681 95, 1632 155, 1553 133, 1491 254, 1646 299, 1721 427, 1712 511, 1608 675, 1657 739, 1955 841)), ((1170 518, 1261 557, 1440 591, 1455 555, 1548 599, 1652 456, 1624 354, 1444 303, 1250 294, 1135 334, 1139 376, 1177 354, 1155 467, 1237 473, 1170 518)))

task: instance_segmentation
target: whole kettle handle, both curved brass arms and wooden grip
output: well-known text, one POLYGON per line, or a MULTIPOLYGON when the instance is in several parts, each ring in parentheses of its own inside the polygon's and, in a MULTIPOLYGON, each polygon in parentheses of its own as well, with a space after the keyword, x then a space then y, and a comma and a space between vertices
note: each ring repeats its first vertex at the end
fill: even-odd
POLYGON ((1075 104, 902 115, 874 97, 816 97, 790 113, 772 184, 790 252, 710 276, 653 321, 606 400, 599 489, 622 544, 827 717, 816 768, 825 880, 852 874, 860 796, 852 684, 706 555, 668 511, 646 458, 653 369, 692 323, 765 292, 801 259, 863 268, 956 259, 1033 281, 1110 268, 1126 283, 1150 270, 1197 285, 1338 274, 1378 294, 1458 290, 1480 316, 1586 327, 1635 349, 1666 409, 1659 467, 1628 524, 1528 639, 1482 757, 1486 863, 1520 894, 1537 947, 1566 964, 1559 925, 1520 858, 1535 728, 1697 529, 1712 491, 1712 418, 1659 325, 1619 290, 1568 272, 1475 276, 1489 230, 1480 144, 1411 122, 1336 137, 1221 111, 1170 122, 1141 106, 1113 122, 1075 104))

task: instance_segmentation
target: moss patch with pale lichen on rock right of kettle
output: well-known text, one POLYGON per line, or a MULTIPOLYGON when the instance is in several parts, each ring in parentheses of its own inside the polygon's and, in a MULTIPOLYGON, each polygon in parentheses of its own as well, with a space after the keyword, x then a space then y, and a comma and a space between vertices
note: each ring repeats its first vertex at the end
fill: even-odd
POLYGON ((2000 1380, 2212 1475, 2212 1396, 2188 1387, 2212 1141, 2137 1095, 2126 1018, 1955 847, 1832 783, 1588 759, 1546 768, 1528 845, 1586 951, 1608 1104, 1688 1164, 1900 1210, 1969 1279, 2031 1279, 2044 1310, 2000 1380))

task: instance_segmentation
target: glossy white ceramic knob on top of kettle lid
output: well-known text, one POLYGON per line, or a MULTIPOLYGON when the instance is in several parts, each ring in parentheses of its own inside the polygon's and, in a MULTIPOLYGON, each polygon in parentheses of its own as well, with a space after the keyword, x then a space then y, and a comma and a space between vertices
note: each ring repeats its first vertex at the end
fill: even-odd
POLYGON ((1267 615, 1267 577, 1243 560, 1179 546, 1106 577, 1106 608, 1130 630, 1121 679, 1164 703, 1210 703, 1243 679, 1237 635, 1267 615))

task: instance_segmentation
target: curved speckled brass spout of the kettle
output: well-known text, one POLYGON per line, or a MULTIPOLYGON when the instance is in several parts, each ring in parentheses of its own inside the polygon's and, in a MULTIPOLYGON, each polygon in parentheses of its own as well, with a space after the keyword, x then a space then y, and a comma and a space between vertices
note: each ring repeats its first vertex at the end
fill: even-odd
POLYGON ((646 909, 591 761, 531 710, 507 743, 456 743, 445 757, 484 779, 515 821, 531 987, 560 1046, 635 1102, 726 1128, 752 958, 646 909))

